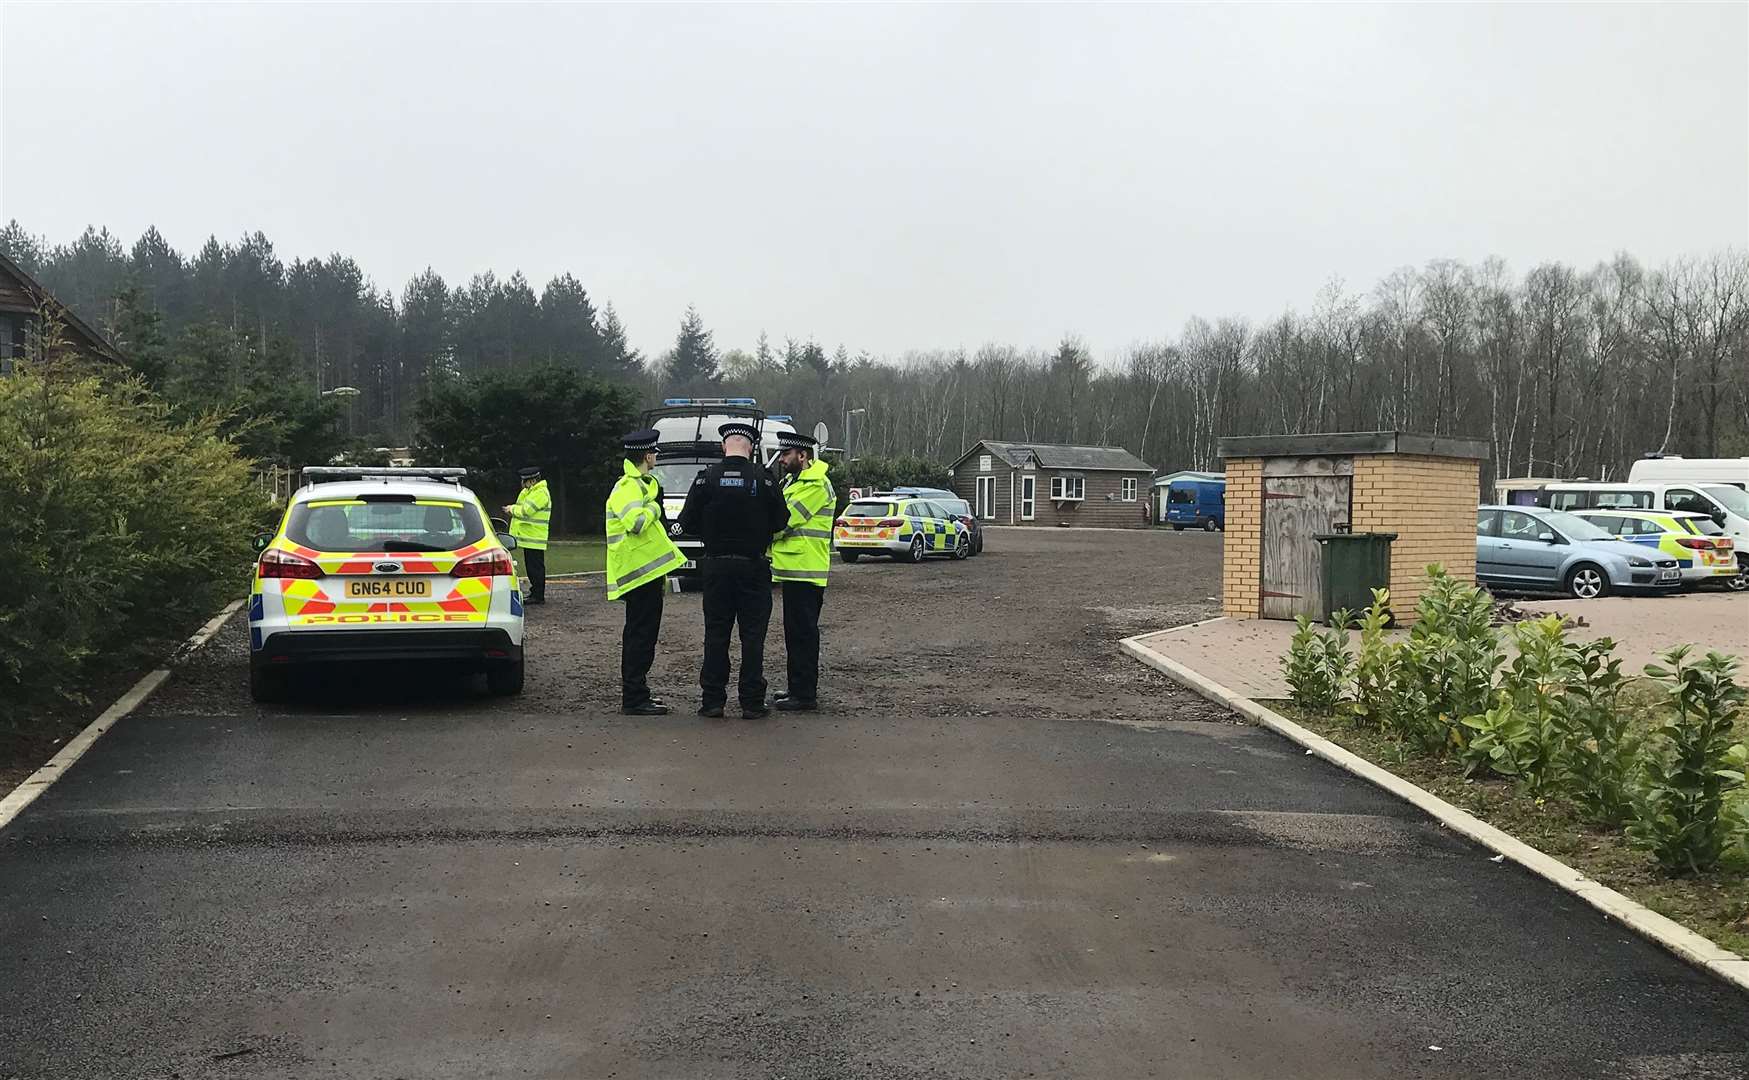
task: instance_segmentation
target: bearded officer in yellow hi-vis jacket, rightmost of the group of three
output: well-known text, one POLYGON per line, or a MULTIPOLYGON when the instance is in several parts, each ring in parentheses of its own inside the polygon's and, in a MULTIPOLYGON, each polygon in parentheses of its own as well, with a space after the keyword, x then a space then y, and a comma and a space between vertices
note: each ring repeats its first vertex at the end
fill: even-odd
POLYGON ((810 436, 784 431, 777 445, 789 513, 784 532, 771 541, 771 579, 784 588, 784 651, 789 660, 789 690, 777 695, 777 707, 812 712, 820 707, 820 606, 833 562, 838 495, 826 478, 826 462, 813 457, 815 441, 810 436))

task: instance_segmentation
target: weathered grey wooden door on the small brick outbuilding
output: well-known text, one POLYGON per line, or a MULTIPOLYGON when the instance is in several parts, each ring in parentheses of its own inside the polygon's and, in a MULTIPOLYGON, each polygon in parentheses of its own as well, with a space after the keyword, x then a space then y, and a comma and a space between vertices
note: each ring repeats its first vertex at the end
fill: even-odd
POLYGON ((1322 614, 1322 551, 1313 539, 1348 523, 1354 478, 1329 459, 1280 459, 1263 471, 1263 618, 1322 614), (1272 473, 1301 473, 1275 474, 1272 473))

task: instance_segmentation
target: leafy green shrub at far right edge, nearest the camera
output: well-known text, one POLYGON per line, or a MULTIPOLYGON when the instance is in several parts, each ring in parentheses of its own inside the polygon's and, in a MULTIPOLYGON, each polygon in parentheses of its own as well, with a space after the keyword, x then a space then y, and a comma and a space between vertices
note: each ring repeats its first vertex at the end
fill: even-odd
POLYGON ((1746 697, 1735 683, 1737 660, 1707 653, 1690 662, 1691 651, 1677 646, 1663 656, 1669 667, 1646 667, 1665 691, 1663 723, 1653 732, 1646 789, 1628 824, 1628 838, 1670 873, 1704 873, 1719 863, 1733 840, 1725 800, 1744 786, 1744 754, 1732 737, 1746 697))

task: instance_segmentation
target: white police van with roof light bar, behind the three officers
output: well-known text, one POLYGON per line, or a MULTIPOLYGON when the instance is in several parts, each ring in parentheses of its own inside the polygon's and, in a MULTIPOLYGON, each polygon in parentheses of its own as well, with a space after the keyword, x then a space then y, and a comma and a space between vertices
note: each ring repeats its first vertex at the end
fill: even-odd
POLYGON ((778 432, 796 431, 791 417, 766 413, 752 397, 668 397, 659 408, 644 411, 644 427, 654 427, 658 434, 656 480, 661 483, 668 536, 686 555, 686 564, 675 574, 682 579, 698 574, 705 541, 680 530, 680 508, 693 490, 693 480, 722 460, 722 436, 717 429, 731 420, 759 429, 754 453, 768 469, 778 453, 778 432))

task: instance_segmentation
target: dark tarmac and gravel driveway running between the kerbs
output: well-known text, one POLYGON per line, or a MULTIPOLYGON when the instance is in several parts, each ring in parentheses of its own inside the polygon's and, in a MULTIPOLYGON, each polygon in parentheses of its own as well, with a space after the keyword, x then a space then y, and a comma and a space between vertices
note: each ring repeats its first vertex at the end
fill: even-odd
POLYGON ((1749 1073, 1749 999, 1116 653, 1216 558, 847 567, 761 723, 612 714, 591 588, 507 705, 257 711, 233 625, 0 831, 0 1076, 1749 1073))

